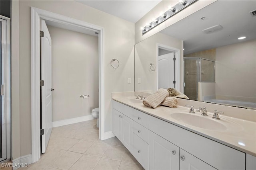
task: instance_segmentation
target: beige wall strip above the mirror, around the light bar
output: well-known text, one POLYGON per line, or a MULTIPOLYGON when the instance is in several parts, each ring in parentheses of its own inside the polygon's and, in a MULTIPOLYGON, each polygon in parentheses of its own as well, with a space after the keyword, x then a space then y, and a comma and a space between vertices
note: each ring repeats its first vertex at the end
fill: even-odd
POLYGON ((147 23, 150 23, 152 20, 158 18, 160 16, 160 13, 166 12, 169 6, 175 5, 179 2, 179 0, 161 1, 152 10, 150 10, 150 12, 148 12, 145 16, 143 16, 140 20, 138 20, 135 23, 135 43, 139 43, 140 41, 150 37, 151 35, 154 35, 155 33, 162 31, 166 27, 169 27, 170 25, 182 20, 183 18, 186 18, 190 14, 193 14, 194 12, 208 6, 209 4, 212 4, 215 1, 216 0, 199 0, 191 6, 185 8, 182 12, 179 12, 178 14, 172 16, 172 18, 164 21, 154 29, 151 29, 150 31, 142 35, 140 29, 141 27, 144 27, 147 23))

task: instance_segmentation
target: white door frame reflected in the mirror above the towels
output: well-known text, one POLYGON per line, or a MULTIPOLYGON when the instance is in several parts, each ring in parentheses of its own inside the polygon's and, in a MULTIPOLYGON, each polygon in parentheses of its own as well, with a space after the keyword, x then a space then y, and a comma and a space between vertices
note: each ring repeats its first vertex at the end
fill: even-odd
POLYGON ((176 49, 174 47, 170 47, 168 45, 163 45, 160 43, 156 44, 156 90, 158 90, 158 55, 159 51, 158 49, 164 49, 167 51, 172 51, 176 53, 176 62, 175 62, 175 81, 176 81, 176 87, 175 89, 180 91, 180 49, 176 49))

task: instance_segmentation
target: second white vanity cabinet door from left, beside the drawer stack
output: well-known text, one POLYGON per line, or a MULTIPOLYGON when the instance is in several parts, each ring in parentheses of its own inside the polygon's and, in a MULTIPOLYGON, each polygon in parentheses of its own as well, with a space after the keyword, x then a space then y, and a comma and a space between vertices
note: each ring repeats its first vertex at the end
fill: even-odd
POLYGON ((124 144, 124 146, 132 152, 132 143, 133 143, 133 120, 127 117, 126 115, 122 114, 122 140, 121 142, 124 144))

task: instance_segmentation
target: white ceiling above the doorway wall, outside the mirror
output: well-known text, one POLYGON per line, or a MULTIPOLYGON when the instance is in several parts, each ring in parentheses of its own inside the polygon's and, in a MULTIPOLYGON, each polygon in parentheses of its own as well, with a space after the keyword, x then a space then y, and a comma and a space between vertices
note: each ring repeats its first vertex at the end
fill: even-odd
POLYGON ((113 16, 136 23, 161 0, 76 0, 113 16))

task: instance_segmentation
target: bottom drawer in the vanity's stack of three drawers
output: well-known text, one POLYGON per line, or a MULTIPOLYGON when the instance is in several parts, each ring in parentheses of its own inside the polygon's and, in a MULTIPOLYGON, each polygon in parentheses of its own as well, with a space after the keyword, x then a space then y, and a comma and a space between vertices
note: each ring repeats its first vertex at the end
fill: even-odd
POLYGON ((133 133, 133 156, 146 170, 149 168, 149 145, 133 133))

